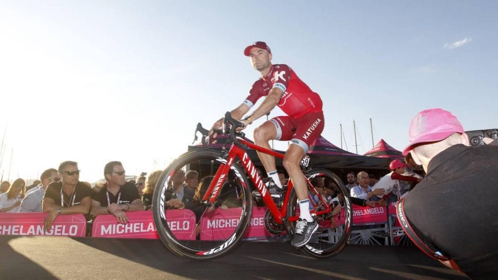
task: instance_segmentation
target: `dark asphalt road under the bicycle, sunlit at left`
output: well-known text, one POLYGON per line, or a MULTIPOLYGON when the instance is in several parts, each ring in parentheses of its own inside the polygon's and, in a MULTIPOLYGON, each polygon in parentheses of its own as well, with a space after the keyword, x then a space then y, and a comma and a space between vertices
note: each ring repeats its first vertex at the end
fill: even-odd
POLYGON ((0 279, 467 279, 418 248, 348 245, 316 260, 288 243, 243 242, 208 262, 180 259, 160 240, 0 236, 0 279))

